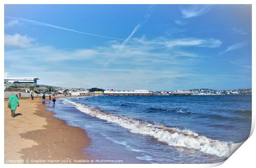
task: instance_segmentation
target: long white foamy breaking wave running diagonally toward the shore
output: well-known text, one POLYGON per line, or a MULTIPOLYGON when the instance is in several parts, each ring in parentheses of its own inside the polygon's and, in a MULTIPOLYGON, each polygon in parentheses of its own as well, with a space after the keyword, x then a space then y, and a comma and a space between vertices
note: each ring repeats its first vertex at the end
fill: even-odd
POLYGON ((162 125, 154 125, 149 122, 121 115, 105 113, 90 106, 86 106, 85 104, 80 104, 70 100, 66 101, 75 105, 75 107, 83 113, 118 124, 123 128, 129 129, 131 133, 149 135, 171 146, 199 150, 200 152, 213 154, 219 157, 228 157, 230 155, 231 142, 228 143, 213 140, 206 136, 199 136, 197 133, 188 129, 181 130, 162 125))

